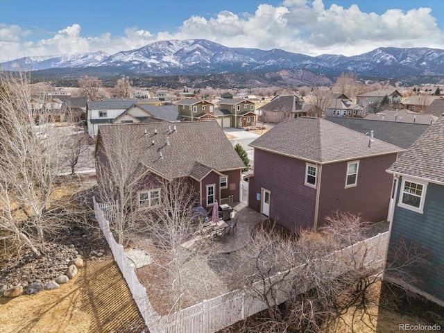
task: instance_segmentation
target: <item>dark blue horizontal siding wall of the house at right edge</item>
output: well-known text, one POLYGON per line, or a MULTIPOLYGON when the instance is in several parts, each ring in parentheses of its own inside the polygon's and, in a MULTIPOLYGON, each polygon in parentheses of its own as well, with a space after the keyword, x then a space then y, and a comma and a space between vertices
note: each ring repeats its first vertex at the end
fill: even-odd
MULTIPOLYGON (((402 178, 399 184, 402 184, 402 178)), ((413 241, 430 251, 432 271, 425 273, 422 276, 424 283, 416 287, 444 301, 444 186, 427 185, 423 214, 398 207, 400 187, 396 196, 390 247, 395 248, 402 236, 405 241, 413 241)))

